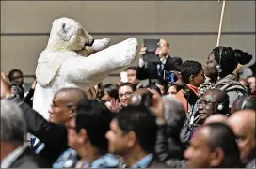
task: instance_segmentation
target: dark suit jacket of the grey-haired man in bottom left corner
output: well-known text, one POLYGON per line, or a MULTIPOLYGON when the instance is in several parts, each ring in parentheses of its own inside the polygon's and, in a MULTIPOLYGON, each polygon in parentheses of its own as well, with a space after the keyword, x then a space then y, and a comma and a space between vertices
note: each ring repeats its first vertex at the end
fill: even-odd
POLYGON ((16 161, 9 166, 9 168, 48 168, 51 167, 39 156, 36 156, 28 147, 24 150, 16 161))

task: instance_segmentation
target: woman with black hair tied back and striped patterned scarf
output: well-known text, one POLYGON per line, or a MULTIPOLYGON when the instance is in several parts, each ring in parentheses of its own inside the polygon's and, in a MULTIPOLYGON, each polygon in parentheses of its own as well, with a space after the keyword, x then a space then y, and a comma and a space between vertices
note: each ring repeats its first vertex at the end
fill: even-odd
MULTIPOLYGON (((216 47, 207 57, 204 65, 206 80, 199 87, 199 95, 193 94, 184 84, 184 95, 192 95, 189 103, 192 106, 188 113, 186 127, 193 128, 199 122, 199 100, 201 95, 208 89, 220 89, 225 91, 230 100, 230 107, 238 97, 248 95, 248 88, 237 82, 237 77, 232 73, 238 64, 245 65, 252 58, 252 55, 231 47, 216 47)), ((229 114, 229 112, 227 112, 229 114)))

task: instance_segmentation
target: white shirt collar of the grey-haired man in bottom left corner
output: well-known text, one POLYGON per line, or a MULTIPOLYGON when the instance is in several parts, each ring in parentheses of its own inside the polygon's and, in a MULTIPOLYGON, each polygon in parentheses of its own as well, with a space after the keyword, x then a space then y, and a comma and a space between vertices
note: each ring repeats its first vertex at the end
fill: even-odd
POLYGON ((27 147, 27 145, 24 144, 22 146, 17 147, 16 149, 14 149, 12 152, 10 152, 8 154, 8 156, 5 157, 5 159, 3 159, 3 161, 1 161, 1 168, 9 168, 10 165, 23 154, 26 147, 27 147))

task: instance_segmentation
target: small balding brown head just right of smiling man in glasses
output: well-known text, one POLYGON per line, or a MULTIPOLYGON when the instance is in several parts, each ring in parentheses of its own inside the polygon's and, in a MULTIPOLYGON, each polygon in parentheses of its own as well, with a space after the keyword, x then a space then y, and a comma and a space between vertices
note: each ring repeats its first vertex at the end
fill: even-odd
POLYGON ((144 97, 145 96, 150 96, 150 95, 151 95, 151 92, 148 89, 146 89, 146 88, 139 88, 134 93, 132 93, 130 95, 130 97, 128 99, 128 105, 140 105, 140 104, 142 104, 145 101, 144 97))

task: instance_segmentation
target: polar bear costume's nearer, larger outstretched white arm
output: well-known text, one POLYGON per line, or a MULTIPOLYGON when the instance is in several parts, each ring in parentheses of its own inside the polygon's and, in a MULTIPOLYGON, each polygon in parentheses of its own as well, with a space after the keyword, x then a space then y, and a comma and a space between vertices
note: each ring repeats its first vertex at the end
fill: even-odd
POLYGON ((131 64, 136 58, 136 47, 136 38, 129 38, 89 57, 69 58, 59 72, 72 83, 96 84, 131 64))

